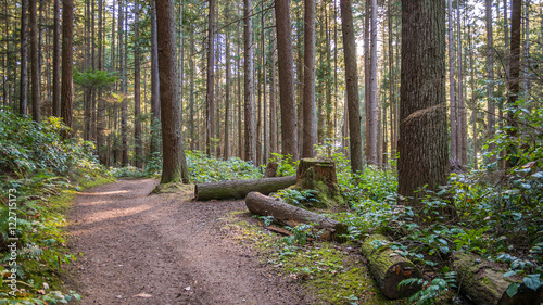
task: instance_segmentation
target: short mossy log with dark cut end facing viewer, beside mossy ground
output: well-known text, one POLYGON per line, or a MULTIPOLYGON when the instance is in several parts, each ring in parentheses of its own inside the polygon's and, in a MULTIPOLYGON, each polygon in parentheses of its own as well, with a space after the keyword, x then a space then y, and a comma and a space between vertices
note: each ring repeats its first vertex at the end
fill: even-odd
POLYGON ((380 234, 368 237, 362 244, 362 253, 368 259, 369 270, 379 283, 382 294, 389 298, 402 298, 420 290, 420 284, 399 284, 409 278, 421 278, 419 269, 407 258, 394 253, 389 246, 376 249, 376 243, 384 244, 388 240, 380 234))

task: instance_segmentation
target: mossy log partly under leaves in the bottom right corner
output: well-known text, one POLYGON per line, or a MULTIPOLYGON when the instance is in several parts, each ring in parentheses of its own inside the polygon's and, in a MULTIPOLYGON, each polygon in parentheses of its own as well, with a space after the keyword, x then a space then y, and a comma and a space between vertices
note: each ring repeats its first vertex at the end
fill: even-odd
POLYGON ((453 270, 458 275, 460 292, 479 305, 513 305, 543 303, 543 289, 533 291, 522 283, 522 277, 504 278, 506 271, 495 263, 481 259, 475 254, 455 253, 453 270), (517 293, 510 297, 506 290, 520 283, 517 293))

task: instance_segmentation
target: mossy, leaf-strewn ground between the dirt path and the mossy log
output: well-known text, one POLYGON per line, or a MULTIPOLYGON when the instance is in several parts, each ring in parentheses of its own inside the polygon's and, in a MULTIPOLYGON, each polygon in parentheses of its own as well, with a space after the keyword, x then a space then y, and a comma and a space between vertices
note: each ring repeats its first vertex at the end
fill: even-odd
POLYGON ((249 243, 277 274, 299 282, 318 304, 407 304, 386 298, 371 278, 356 245, 328 242, 288 244, 263 229, 262 220, 245 212, 223 218, 223 229, 249 243))

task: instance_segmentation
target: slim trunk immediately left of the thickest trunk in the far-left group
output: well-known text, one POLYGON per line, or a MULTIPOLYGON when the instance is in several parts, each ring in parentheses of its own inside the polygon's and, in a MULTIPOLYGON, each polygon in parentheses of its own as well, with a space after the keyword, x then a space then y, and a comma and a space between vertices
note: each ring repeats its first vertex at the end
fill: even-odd
MULTIPOLYGON (((61 116, 61 8, 60 0, 53 4, 53 115, 61 116)), ((100 27, 101 30, 101 27, 100 27)))

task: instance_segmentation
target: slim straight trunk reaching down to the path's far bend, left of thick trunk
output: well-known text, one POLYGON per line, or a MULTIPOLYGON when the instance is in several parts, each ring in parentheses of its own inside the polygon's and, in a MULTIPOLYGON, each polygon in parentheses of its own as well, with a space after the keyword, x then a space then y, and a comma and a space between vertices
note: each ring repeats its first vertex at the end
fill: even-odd
POLYGON ((141 88, 140 88, 140 48, 139 48, 139 1, 135 1, 135 16, 134 16, 134 157, 135 166, 141 168, 143 150, 141 140, 141 88))

